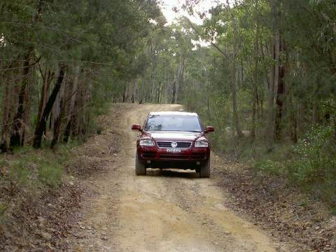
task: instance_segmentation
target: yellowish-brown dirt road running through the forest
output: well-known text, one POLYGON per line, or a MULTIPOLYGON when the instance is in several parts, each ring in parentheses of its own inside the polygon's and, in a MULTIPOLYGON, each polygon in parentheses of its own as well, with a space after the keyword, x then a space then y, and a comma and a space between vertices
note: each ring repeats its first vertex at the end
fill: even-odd
MULTIPOLYGON (((225 208, 216 176, 198 179, 193 171, 149 170, 135 176, 137 133, 149 111, 174 111, 179 105, 128 105, 106 132, 118 134, 120 151, 110 153, 106 173, 85 181, 95 193, 83 203, 83 218, 71 251, 283 251, 267 235, 225 208), (274 245, 275 244, 275 245, 274 245)), ((104 134, 100 139, 104 138, 104 134)), ((102 142, 103 143, 103 142, 102 142)), ((99 145, 99 138, 97 139, 99 145)), ((107 146, 102 144, 102 149, 107 146)), ((221 164, 213 155, 211 166, 221 164)))

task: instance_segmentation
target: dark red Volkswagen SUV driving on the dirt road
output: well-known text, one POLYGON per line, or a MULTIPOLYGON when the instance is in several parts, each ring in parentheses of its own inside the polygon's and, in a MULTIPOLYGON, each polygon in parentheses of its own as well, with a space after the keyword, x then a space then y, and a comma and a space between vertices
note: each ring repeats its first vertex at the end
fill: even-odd
POLYGON ((203 129, 197 113, 151 112, 137 139, 135 173, 146 175, 146 168, 195 169, 201 178, 210 176, 210 144, 206 137, 214 127, 203 129))

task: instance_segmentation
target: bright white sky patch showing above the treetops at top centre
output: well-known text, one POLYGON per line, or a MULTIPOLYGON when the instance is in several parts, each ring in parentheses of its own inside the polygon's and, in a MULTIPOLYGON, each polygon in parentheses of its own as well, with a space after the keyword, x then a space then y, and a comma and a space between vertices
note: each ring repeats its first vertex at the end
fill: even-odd
MULTIPOLYGON (((222 0, 223 1, 223 0, 222 0)), ((197 11, 207 11, 212 6, 216 6, 218 0, 201 0, 200 3, 196 6, 195 10, 197 11)), ((162 0, 161 10, 162 13, 167 18, 167 22, 172 24, 175 18, 179 18, 183 15, 186 15, 192 22, 195 22, 197 25, 202 24, 202 20, 197 16, 190 16, 186 11, 181 9, 181 6, 185 3, 185 0, 162 0), (172 8, 177 7, 180 11, 175 13, 172 8)))

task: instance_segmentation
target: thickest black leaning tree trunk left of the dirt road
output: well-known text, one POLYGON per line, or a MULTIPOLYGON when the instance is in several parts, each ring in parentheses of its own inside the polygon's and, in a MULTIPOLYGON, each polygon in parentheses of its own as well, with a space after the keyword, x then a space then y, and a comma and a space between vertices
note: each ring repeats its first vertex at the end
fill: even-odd
POLYGON ((45 126, 47 124, 50 111, 52 109, 53 104, 55 103, 59 89, 62 86, 62 82, 64 79, 64 73, 65 73, 65 65, 61 64, 61 66, 59 67, 59 75, 57 77, 55 87, 50 94, 47 104, 45 104, 45 108, 43 109, 41 120, 37 122, 36 124, 35 133, 34 133, 34 143, 33 143, 34 148, 41 148, 43 132, 45 132, 45 126))

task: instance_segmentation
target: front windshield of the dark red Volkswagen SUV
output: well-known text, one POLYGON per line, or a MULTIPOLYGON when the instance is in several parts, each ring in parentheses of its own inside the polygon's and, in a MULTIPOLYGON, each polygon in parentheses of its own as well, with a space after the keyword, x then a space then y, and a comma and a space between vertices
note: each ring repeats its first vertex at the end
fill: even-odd
POLYGON ((202 132, 202 127, 197 116, 150 115, 144 130, 202 132))

